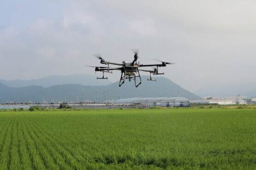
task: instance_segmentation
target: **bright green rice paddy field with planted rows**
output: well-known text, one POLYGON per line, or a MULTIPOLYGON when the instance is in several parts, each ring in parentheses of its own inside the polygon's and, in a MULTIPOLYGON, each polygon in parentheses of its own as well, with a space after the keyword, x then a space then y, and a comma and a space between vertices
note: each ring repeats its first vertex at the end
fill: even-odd
POLYGON ((0 112, 0 170, 256 169, 256 109, 0 112))

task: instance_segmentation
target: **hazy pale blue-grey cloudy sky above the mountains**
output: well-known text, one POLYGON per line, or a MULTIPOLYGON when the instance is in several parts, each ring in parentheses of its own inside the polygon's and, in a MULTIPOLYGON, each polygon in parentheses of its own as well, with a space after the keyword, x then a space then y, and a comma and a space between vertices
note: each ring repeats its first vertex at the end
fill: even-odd
POLYGON ((0 79, 95 74, 94 54, 121 63, 138 49, 141 64, 174 62, 160 71, 186 90, 237 95, 256 89, 255 47, 253 0, 0 1, 0 79))

